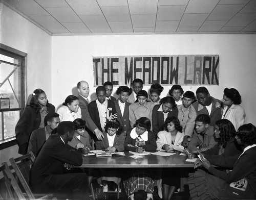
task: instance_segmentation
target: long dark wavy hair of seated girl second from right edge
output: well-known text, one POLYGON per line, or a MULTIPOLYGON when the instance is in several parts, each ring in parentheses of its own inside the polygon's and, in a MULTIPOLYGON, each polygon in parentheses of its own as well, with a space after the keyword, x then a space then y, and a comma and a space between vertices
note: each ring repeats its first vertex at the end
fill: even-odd
POLYGON ((218 145, 222 145, 222 147, 225 148, 228 141, 236 136, 236 129, 234 129, 232 122, 228 119, 220 119, 216 121, 215 124, 219 127, 220 131, 220 140, 218 141, 218 145))

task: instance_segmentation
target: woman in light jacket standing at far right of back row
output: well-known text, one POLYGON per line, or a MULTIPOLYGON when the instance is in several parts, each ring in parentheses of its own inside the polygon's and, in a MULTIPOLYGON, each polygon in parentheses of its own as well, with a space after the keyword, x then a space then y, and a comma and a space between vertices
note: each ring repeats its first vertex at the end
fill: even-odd
POLYGON ((234 88, 225 88, 222 101, 224 108, 221 118, 231 121, 237 131, 240 126, 246 123, 245 111, 240 106, 241 95, 234 88))

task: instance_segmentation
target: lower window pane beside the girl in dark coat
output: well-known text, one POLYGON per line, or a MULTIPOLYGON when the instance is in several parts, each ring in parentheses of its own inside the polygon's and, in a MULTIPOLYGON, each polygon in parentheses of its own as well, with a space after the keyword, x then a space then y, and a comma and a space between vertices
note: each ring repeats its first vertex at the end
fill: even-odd
MULTIPOLYGON (((15 126, 19 119, 19 111, 7 111, 4 113, 4 119, 2 119, 2 113, 0 115, 0 131, 1 136, 3 135, 2 120, 4 120, 4 139, 9 139, 15 136, 15 126)), ((3 138, 1 137, 0 140, 3 138)))

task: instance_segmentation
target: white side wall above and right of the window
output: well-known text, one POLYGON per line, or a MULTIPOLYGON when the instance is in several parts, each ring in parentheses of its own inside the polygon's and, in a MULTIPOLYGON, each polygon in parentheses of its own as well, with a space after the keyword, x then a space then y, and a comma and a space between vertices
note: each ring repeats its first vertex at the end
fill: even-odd
POLYGON ((27 96, 45 90, 51 102, 51 36, 1 4, 0 43, 28 54, 27 96))

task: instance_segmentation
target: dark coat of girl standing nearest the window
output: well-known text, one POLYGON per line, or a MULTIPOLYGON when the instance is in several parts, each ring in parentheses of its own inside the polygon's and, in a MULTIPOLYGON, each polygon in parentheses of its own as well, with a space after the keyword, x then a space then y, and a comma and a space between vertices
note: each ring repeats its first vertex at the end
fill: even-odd
MULTIPOLYGON (((55 112, 55 107, 52 104, 49 104, 49 106, 46 108, 48 114, 55 112)), ((40 123, 40 113, 36 113, 34 108, 27 106, 15 127, 16 140, 19 146, 19 154, 25 155, 27 153, 30 135, 32 131, 39 128, 40 123)))

